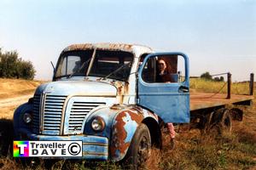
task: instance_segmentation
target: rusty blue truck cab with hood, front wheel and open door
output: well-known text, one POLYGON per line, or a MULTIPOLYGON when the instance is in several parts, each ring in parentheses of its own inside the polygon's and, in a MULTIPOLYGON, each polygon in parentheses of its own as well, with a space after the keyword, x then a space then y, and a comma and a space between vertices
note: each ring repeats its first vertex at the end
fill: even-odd
POLYGON ((189 59, 120 43, 65 48, 53 81, 14 115, 15 139, 82 140, 84 159, 136 164, 161 145, 160 122, 189 122, 189 59), (163 58, 173 82, 155 81, 163 58))

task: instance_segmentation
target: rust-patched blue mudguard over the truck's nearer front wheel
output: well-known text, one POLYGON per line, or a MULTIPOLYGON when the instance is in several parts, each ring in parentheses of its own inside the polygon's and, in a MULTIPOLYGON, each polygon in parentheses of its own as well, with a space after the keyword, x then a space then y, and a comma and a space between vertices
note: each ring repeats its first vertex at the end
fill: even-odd
POLYGON ((146 118, 153 119, 158 123, 158 117, 156 115, 138 106, 120 111, 114 117, 110 144, 111 160, 120 161, 125 157, 137 127, 146 118))

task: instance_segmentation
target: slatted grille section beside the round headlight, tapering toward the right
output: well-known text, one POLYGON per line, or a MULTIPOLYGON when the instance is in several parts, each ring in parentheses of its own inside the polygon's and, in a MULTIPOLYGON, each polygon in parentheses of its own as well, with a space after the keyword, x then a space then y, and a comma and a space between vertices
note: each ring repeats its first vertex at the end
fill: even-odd
POLYGON ((68 119, 68 131, 81 131, 85 116, 103 102, 74 102, 68 119))

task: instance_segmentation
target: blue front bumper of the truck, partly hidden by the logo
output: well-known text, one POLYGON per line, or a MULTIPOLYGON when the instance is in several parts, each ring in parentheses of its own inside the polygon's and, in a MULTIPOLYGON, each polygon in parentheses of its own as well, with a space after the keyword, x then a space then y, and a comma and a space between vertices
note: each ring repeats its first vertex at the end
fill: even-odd
POLYGON ((86 160, 108 160, 108 138, 92 135, 72 135, 72 136, 50 136, 31 133, 25 128, 19 129, 20 140, 82 140, 83 159, 86 160))

